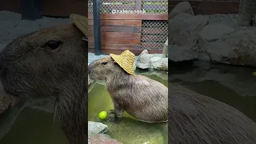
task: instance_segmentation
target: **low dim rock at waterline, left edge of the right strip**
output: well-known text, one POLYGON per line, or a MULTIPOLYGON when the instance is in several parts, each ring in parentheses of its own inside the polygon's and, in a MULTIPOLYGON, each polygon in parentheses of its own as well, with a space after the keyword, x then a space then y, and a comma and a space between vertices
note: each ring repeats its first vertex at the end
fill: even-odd
POLYGON ((190 61, 198 58, 198 53, 191 46, 169 45, 168 58, 174 62, 190 61))

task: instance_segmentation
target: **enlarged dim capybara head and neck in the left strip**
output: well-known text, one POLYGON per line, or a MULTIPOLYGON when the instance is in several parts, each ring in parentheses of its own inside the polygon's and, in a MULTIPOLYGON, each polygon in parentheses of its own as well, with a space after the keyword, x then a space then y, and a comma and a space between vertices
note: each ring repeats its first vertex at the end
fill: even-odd
POLYGON ((87 143, 87 49, 73 24, 15 39, 0 55, 4 90, 16 98, 56 98, 55 118, 72 144, 87 143))

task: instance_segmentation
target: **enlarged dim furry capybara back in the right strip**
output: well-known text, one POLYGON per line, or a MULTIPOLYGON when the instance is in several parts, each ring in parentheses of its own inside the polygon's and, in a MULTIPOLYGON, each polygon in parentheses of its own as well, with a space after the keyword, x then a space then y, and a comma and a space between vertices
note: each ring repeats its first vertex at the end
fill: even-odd
POLYGON ((242 112, 175 84, 169 94, 169 143, 256 143, 256 124, 242 112))

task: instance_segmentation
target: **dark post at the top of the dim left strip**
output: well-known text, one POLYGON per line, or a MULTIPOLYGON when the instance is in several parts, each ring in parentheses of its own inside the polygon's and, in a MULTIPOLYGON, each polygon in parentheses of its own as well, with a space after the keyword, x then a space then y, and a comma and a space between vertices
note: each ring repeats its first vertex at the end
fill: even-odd
POLYGON ((42 18, 40 0, 22 0, 22 19, 36 20, 42 18))

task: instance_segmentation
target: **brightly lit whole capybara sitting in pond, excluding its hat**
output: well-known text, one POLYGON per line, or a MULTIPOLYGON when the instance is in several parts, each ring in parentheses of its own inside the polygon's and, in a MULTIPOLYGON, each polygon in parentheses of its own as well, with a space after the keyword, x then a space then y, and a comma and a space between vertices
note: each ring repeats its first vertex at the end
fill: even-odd
POLYGON ((144 122, 167 121, 168 88, 162 83, 126 73, 110 56, 90 63, 88 70, 91 79, 106 82, 114 104, 110 112, 114 112, 115 118, 121 118, 126 111, 144 122))

